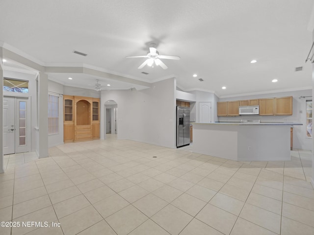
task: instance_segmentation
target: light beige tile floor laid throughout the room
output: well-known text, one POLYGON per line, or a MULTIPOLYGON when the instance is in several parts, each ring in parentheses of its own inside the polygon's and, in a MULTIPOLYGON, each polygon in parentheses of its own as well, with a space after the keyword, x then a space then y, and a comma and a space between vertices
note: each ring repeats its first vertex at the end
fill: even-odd
POLYGON ((310 151, 234 162, 191 149, 107 135, 52 147, 45 159, 9 156, 0 221, 20 227, 0 234, 314 235, 310 151), (39 221, 50 227, 23 224, 39 221))

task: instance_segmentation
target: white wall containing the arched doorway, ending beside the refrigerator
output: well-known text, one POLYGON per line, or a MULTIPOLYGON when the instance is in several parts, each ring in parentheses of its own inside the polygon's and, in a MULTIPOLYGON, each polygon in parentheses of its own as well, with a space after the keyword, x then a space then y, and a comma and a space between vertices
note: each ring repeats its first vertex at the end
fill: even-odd
MULTIPOLYGON (((152 87, 136 91, 102 91, 105 101, 117 103, 118 139, 146 142, 175 148, 176 146, 176 80, 170 78, 152 83, 152 87)), ((105 138, 105 108, 101 118, 101 139, 105 138)))

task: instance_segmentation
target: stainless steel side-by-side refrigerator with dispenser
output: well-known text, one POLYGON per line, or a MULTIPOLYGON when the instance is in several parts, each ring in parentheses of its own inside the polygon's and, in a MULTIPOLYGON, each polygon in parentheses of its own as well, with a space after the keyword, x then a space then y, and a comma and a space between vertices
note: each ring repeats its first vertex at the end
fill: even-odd
POLYGON ((177 148, 190 144, 190 108, 177 106, 177 148))

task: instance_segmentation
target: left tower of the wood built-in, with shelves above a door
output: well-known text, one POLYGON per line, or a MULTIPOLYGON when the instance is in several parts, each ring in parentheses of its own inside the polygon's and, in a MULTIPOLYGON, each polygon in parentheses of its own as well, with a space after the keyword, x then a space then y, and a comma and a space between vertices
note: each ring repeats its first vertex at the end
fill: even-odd
POLYGON ((74 96, 63 95, 63 142, 74 141, 74 96))

